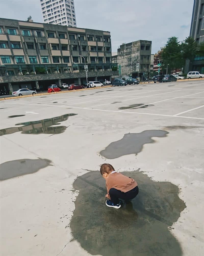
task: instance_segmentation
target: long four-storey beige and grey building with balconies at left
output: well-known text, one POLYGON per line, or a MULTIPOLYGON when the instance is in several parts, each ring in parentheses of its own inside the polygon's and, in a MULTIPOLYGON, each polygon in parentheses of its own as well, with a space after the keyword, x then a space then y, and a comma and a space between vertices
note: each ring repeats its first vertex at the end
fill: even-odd
POLYGON ((84 58, 89 81, 117 74, 108 31, 1 18, 0 48, 0 87, 6 91, 85 84, 84 58))

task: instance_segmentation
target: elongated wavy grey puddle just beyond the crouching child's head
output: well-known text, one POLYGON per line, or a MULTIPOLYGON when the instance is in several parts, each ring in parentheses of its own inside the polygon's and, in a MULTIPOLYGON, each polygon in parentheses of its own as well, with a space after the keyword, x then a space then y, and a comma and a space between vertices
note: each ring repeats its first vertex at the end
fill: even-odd
POLYGON ((141 133, 126 133, 119 141, 111 142, 101 156, 114 159, 124 155, 137 155, 142 151, 143 145, 155 142, 151 137, 166 137, 168 132, 162 130, 146 130, 141 133))

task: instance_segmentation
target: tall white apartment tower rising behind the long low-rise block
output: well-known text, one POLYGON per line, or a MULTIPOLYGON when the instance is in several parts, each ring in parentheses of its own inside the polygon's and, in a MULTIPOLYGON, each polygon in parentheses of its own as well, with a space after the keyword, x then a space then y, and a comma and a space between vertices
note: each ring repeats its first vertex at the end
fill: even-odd
POLYGON ((40 0, 43 22, 76 27, 74 0, 40 0))

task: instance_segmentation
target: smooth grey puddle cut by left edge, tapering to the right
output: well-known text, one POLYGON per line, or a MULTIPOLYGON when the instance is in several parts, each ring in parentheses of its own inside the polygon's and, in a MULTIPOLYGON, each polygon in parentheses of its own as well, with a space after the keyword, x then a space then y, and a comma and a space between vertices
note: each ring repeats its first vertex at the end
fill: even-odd
POLYGON ((10 179, 26 174, 36 173, 50 165, 48 159, 19 159, 0 164, 0 180, 10 179))

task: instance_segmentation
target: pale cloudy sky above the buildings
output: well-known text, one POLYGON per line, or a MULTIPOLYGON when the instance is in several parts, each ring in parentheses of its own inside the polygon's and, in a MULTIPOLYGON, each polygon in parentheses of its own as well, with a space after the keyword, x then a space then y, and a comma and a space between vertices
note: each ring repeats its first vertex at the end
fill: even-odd
MULTIPOLYGON (((190 33, 193 0, 74 0, 79 28, 110 31, 112 52, 122 43, 152 41, 154 54, 169 37, 190 33)), ((43 22, 40 0, 0 0, 0 17, 43 22)))

